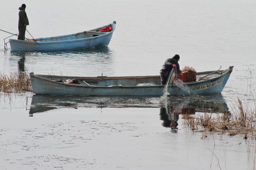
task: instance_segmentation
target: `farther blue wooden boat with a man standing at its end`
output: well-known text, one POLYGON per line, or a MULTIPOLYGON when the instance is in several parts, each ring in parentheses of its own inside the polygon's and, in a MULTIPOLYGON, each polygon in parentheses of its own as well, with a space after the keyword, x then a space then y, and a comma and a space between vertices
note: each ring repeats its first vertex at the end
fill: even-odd
POLYGON ((61 51, 104 47, 109 45, 115 24, 114 21, 112 24, 76 34, 35 38, 33 40, 10 39, 9 42, 13 51, 61 51), (100 32, 104 27, 109 26, 112 27, 111 31, 100 32))

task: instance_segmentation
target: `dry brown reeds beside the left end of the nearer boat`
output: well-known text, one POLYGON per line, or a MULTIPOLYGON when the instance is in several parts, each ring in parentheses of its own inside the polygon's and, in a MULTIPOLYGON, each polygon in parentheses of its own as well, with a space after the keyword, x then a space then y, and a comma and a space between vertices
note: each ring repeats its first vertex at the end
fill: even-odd
POLYGON ((0 72, 0 92, 22 92, 31 91, 31 82, 28 72, 14 72, 6 75, 0 72))

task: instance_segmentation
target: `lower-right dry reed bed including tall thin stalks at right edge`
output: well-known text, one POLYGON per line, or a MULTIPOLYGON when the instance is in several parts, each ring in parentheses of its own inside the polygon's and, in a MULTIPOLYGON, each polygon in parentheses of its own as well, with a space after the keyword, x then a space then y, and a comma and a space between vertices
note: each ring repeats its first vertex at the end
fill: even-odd
MULTIPOLYGON (((248 74, 245 77, 247 91, 243 102, 238 97, 236 100, 232 99, 229 113, 223 108, 218 113, 209 111, 193 117, 187 115, 183 120, 183 125, 194 132, 228 133, 228 136, 243 134, 244 139, 250 135, 252 140, 256 140, 256 103, 251 92, 253 77, 250 69, 246 73, 248 74)), ((202 136, 202 138, 205 137, 207 136, 202 136)))

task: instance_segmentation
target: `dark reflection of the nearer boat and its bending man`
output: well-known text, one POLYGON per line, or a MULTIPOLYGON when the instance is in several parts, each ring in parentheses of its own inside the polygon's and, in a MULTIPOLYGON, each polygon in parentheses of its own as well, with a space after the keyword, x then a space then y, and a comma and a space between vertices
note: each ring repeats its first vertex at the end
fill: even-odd
POLYGON ((160 108, 162 126, 177 132, 178 119, 181 115, 196 112, 227 112, 228 107, 221 94, 206 96, 172 96, 170 98, 149 96, 32 96, 29 116, 53 109, 83 107, 156 107, 160 108))

